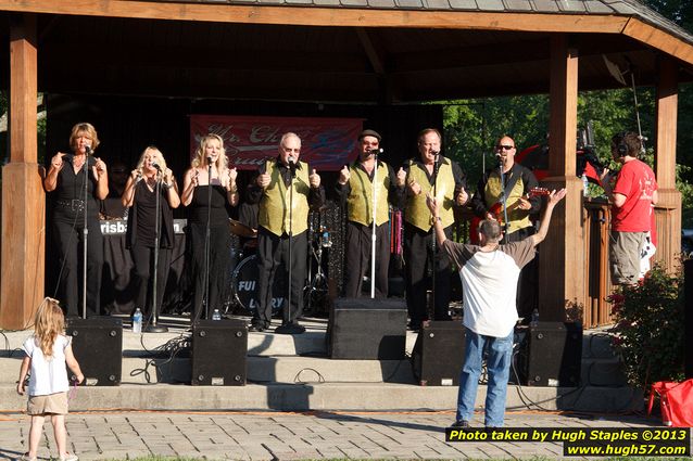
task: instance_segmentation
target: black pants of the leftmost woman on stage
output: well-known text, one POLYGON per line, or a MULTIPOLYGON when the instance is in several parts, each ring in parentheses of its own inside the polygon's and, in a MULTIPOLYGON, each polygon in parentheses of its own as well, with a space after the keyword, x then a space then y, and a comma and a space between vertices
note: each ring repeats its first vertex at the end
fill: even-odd
MULTIPOLYGON (((98 220, 88 220, 87 231, 87 316, 98 316, 101 313, 103 234, 98 220)), ((78 218, 73 227, 73 221, 55 219, 53 232, 62 267, 59 280, 61 305, 67 316, 81 316, 84 220, 78 218)))

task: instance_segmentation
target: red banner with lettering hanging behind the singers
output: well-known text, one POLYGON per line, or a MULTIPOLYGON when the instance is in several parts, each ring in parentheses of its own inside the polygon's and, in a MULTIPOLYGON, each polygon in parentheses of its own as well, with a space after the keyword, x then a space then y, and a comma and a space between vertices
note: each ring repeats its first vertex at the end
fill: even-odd
POLYGON ((318 171, 339 170, 356 158, 356 138, 363 129, 361 118, 257 117, 191 115, 191 152, 206 133, 224 138, 229 165, 256 169, 278 154, 279 140, 292 131, 301 138, 302 162, 318 171))

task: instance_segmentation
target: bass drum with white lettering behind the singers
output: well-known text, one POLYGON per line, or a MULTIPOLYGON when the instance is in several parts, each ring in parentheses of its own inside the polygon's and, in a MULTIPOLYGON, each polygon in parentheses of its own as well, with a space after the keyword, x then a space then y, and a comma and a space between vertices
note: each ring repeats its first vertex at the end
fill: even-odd
MULTIPOLYGON (((257 310, 257 279, 260 269, 257 268, 257 255, 244 258, 236 266, 231 276, 231 291, 236 309, 239 313, 254 315, 257 310)), ((272 315, 277 316, 284 306, 284 296, 287 286, 287 276, 284 265, 277 268, 272 298, 272 315)))

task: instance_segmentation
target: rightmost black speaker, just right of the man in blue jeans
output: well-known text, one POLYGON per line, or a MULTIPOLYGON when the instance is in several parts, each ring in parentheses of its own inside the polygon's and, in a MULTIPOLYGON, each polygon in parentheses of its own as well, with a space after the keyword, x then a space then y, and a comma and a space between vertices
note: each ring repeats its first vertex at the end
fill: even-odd
POLYGON ((520 382, 527 386, 577 387, 582 362, 582 325, 539 322, 527 326, 520 348, 520 382))

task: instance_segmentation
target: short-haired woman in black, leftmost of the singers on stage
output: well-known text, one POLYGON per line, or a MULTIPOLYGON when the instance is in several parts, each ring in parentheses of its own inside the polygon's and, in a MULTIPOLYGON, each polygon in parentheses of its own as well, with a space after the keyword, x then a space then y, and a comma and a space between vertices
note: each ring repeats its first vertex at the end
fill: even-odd
POLYGON ((109 194, 105 163, 93 157, 99 146, 97 130, 80 123, 72 128, 70 146, 74 154, 56 153, 43 188, 53 202, 52 226, 61 261, 59 287, 67 316, 81 312, 85 205, 87 208, 87 310, 100 313, 101 267, 103 266, 103 235, 99 226, 99 201, 109 194), (88 170, 87 170, 88 169, 88 170), (85 204, 85 182, 87 202, 85 204))

